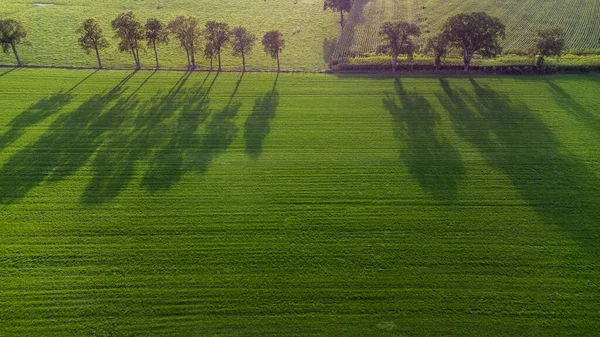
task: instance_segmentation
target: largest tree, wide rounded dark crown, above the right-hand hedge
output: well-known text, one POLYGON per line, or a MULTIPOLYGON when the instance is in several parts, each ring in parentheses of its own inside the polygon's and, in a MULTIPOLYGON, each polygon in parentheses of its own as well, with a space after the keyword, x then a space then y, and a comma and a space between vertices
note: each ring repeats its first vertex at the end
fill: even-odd
POLYGON ((504 40, 505 29, 500 19, 483 12, 473 12, 450 17, 444 24, 443 32, 453 46, 462 50, 466 73, 473 55, 493 58, 502 53, 500 40, 504 40))

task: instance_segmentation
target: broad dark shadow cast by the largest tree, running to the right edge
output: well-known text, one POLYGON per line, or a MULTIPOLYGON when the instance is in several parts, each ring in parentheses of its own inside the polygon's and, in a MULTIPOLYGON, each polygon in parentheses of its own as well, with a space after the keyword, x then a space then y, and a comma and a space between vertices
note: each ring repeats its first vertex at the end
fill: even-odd
POLYGON ((474 94, 440 81, 438 99, 458 134, 510 178, 537 214, 600 253, 600 181, 591 168, 564 150, 524 103, 475 80, 474 94))

